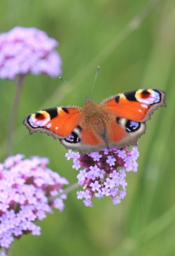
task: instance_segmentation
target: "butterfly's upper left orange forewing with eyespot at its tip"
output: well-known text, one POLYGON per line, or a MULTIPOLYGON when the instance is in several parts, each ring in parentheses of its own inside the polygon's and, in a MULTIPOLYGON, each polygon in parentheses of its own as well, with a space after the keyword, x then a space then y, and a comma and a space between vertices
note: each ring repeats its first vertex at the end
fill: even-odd
POLYGON ((47 133, 62 139, 78 126, 80 118, 80 107, 54 107, 30 114, 23 123, 30 133, 47 133))

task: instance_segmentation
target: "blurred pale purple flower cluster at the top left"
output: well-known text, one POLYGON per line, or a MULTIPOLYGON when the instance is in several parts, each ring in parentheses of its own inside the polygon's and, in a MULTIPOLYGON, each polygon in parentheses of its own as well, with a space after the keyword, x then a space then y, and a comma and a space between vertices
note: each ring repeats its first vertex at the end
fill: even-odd
POLYGON ((62 60, 55 51, 57 44, 33 27, 15 27, 0 34, 0 77, 14 79, 27 73, 59 76, 62 60))

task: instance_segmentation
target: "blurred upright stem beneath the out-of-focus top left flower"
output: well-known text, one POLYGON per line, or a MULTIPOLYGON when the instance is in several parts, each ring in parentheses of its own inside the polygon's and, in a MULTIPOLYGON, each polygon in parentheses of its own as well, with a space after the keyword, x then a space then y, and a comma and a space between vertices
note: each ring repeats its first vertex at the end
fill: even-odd
POLYGON ((18 104, 20 101, 23 80, 24 80, 24 76, 19 75, 15 82, 16 89, 15 89, 15 97, 13 100, 13 106, 12 106, 11 114, 10 114, 10 121, 9 121, 9 125, 8 125, 6 156, 9 156, 12 151, 13 130, 14 130, 14 126, 15 126, 15 119, 16 119, 16 115, 17 115, 17 111, 18 111, 18 104))

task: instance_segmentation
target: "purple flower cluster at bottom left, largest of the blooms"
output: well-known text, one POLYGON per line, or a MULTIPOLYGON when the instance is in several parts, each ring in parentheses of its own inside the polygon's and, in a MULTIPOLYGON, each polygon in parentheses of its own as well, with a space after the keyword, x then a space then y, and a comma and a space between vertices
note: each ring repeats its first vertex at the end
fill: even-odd
POLYGON ((51 207, 63 210, 62 186, 68 182, 47 164, 47 158, 21 154, 0 163, 0 248, 9 248, 22 234, 38 236, 41 228, 34 222, 52 213, 51 207))

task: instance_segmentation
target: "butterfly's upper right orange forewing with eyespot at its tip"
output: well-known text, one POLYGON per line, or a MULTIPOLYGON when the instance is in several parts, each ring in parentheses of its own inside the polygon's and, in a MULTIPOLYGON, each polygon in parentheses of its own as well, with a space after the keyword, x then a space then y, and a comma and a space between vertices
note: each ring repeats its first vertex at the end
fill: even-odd
POLYGON ((165 106, 165 97, 162 90, 140 89, 113 95, 100 102, 100 105, 119 118, 144 122, 155 109, 165 106))

